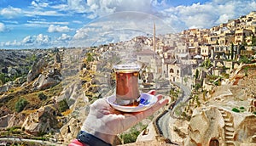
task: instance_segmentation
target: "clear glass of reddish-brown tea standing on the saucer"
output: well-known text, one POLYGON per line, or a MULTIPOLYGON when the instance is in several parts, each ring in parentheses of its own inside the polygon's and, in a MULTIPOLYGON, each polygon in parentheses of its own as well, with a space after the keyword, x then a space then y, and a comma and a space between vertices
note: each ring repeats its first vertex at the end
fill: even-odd
POLYGON ((116 75, 116 104, 137 106, 140 100, 138 88, 139 65, 114 65, 116 75))

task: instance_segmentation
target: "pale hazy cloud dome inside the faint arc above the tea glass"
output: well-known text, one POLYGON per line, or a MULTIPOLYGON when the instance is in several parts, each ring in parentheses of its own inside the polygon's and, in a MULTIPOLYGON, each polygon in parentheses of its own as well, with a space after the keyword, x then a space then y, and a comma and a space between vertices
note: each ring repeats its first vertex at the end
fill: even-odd
POLYGON ((172 33, 163 20, 154 15, 138 12, 119 12, 101 17, 76 31, 71 46, 98 45, 108 42, 119 42, 135 36, 151 35, 154 22, 157 25, 157 34, 172 33), (139 23, 138 23, 139 22, 139 23))

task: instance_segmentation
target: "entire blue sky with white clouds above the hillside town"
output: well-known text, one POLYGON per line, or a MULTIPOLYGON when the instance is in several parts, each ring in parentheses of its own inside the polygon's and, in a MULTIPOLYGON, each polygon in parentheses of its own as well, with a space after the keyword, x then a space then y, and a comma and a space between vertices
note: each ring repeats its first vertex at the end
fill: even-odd
POLYGON ((0 0, 0 48, 90 47, 211 28, 256 0, 0 0))

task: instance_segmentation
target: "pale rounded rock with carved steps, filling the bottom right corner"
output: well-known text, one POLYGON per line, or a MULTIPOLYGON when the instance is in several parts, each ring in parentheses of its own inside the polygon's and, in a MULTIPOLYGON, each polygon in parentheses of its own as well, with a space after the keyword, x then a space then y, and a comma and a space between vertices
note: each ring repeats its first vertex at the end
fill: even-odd
POLYGON ((184 145, 255 143, 255 122, 256 116, 250 113, 239 114, 217 107, 195 109, 184 145))

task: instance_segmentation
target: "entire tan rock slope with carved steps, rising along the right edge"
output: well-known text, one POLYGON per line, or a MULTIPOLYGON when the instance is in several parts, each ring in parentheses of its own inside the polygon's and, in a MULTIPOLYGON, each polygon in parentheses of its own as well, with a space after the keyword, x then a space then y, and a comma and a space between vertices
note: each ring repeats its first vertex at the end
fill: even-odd
POLYGON ((243 65, 193 110, 184 145, 255 143, 255 65, 243 65), (246 69, 246 70, 243 70, 246 69))

